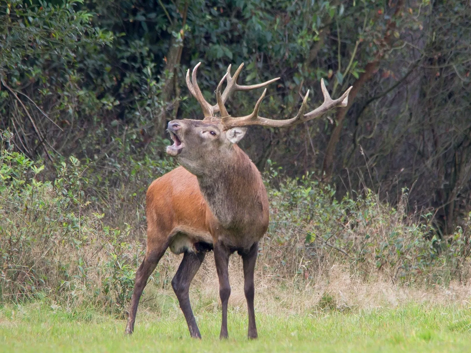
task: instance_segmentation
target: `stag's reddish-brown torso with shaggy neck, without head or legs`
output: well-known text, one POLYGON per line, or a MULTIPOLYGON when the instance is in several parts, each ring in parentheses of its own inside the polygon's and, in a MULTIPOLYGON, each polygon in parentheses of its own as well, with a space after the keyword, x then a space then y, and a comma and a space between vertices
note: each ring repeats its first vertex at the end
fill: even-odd
POLYGON ((196 177, 178 167, 154 180, 146 194, 148 248, 168 241, 181 254, 222 237, 235 251, 260 240, 268 228, 267 192, 252 161, 233 148, 235 160, 222 173, 196 177))

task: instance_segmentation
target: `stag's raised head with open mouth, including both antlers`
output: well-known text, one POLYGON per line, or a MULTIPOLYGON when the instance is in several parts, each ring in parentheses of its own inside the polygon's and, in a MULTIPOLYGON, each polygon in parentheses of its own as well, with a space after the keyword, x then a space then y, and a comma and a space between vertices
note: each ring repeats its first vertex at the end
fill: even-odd
POLYGON ((176 156, 179 163, 195 175, 199 175, 207 167, 223 165, 223 159, 230 155, 233 150, 233 145, 244 137, 246 131, 245 126, 262 125, 284 127, 314 119, 332 108, 346 106, 351 89, 350 87, 340 98, 333 100, 325 88, 324 80, 321 80, 321 88, 324 95, 324 103, 321 106, 311 112, 304 113, 309 96, 308 90, 296 116, 287 120, 273 120, 262 118, 258 115, 260 104, 267 92, 265 88, 251 114, 242 117, 232 117, 227 113, 224 105, 232 92, 262 88, 279 78, 256 85, 238 85, 237 77, 244 63, 239 66, 234 76, 231 76, 231 65, 229 65, 227 73, 219 81, 218 88, 216 89, 216 99, 218 103, 211 105, 204 99, 196 80, 196 72, 200 64, 201 63, 198 63, 193 69, 191 80, 190 70, 187 71, 187 86, 188 90, 201 105, 204 119, 183 119, 169 122, 168 131, 173 140, 173 144, 167 147, 167 153, 171 156, 176 156), (221 93, 224 80, 227 80, 227 85, 224 92, 221 93), (217 112, 219 112, 219 117, 215 116, 217 112))

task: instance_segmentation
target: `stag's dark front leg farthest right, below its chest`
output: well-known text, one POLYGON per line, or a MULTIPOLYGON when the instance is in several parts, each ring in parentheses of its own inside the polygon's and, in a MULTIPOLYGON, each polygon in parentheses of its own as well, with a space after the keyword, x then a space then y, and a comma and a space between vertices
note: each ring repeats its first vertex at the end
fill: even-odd
POLYGON ((255 262, 259 251, 259 243, 256 242, 247 253, 242 254, 244 264, 244 293, 247 300, 247 311, 249 314, 249 339, 257 338, 257 325, 255 324, 255 310, 253 308, 253 298, 255 296, 255 286, 253 284, 253 273, 255 271, 255 262))

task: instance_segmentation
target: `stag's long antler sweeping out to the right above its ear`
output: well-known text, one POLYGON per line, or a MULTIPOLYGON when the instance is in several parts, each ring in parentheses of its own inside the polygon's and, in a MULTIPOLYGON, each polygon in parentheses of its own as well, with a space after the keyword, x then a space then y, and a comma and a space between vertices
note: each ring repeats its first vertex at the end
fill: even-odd
POLYGON ((265 97, 265 93, 267 92, 267 88, 265 88, 259 100, 257 101, 257 104, 255 104, 255 108, 253 109, 252 114, 246 115, 243 117, 232 117, 227 113, 227 110, 224 107, 224 100, 221 97, 221 86, 225 77, 226 76, 224 76, 222 80, 219 82, 218 88, 216 89, 216 97, 218 99, 219 110, 221 112, 221 122, 224 125, 224 128, 226 129, 235 128, 238 126, 239 127, 247 126, 247 125, 262 125, 262 126, 271 126, 271 127, 281 128, 285 126, 292 126, 299 122, 308 121, 308 120, 321 116, 322 114, 324 114, 330 109, 333 109, 336 107, 347 106, 348 100, 349 100, 349 92, 352 89, 352 86, 350 86, 349 89, 347 89, 340 98, 333 100, 330 97, 329 92, 327 92, 327 88, 325 88, 324 80, 321 80, 321 88, 322 88, 322 94, 324 95, 324 103, 322 103, 320 107, 314 109, 313 111, 309 113, 304 114, 304 110, 306 109, 306 103, 308 101, 308 96, 309 96, 309 90, 308 90, 308 92, 306 93, 306 96, 304 96, 304 99, 302 100, 301 107, 295 117, 291 119, 287 119, 287 120, 273 120, 273 119, 262 118, 258 115, 260 104, 263 98, 265 97))

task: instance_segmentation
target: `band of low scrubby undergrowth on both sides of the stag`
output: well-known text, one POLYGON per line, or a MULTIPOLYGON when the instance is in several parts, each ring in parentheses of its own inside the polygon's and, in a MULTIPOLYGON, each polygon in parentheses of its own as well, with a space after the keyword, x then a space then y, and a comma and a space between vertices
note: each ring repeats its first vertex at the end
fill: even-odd
MULTIPOLYGON (((143 247, 129 224, 106 224, 118 222, 108 206, 127 207, 126 217, 136 218, 136 193, 143 197, 147 179, 172 162, 122 156, 106 181, 92 165, 70 157, 49 171, 51 181, 41 180, 44 166, 15 152, 11 138, 4 132, 0 146, 0 301, 47 297, 67 308, 93 305, 123 317, 143 247), (100 187, 111 181, 121 186, 110 186, 115 192, 106 202, 90 193, 103 192, 100 187)), ((439 240, 430 214, 406 213, 406 190, 392 208, 368 189, 336 201, 335 190, 313 175, 284 178, 273 164, 264 179, 271 214, 259 264, 275 278, 309 283, 340 263, 365 280, 446 285, 468 279, 471 214, 452 236, 439 240)), ((159 266, 160 286, 173 275, 170 267, 159 266)))

